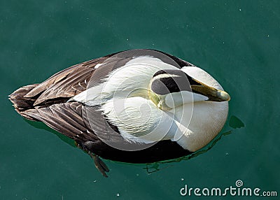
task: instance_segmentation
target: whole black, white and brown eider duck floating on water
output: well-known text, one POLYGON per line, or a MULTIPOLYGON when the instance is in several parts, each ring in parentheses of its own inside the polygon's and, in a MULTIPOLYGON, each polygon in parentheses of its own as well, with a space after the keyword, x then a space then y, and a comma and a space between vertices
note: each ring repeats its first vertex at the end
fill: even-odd
POLYGON ((207 145, 230 96, 208 73, 157 50, 127 50, 59 71, 10 94, 15 110, 98 158, 151 163, 207 145))

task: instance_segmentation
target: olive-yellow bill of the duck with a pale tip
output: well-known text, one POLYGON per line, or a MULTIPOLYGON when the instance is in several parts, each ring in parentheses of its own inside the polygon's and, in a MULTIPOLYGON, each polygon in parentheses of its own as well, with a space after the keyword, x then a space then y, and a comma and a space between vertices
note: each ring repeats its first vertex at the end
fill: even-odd
POLYGON ((193 92, 197 94, 202 94, 205 97, 208 97, 208 101, 230 101, 230 94, 223 90, 218 90, 214 87, 208 85, 190 85, 193 92))

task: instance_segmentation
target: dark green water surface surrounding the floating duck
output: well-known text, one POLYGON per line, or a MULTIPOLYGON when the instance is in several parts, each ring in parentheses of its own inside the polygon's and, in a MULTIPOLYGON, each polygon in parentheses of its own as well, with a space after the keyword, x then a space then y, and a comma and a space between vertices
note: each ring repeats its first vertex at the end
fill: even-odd
POLYGON ((1 0, 0 199, 204 199, 180 189, 237 180, 279 198, 279 10, 276 0, 1 0), (155 173, 105 160, 104 178, 82 150, 28 123, 8 100, 68 66, 134 48, 168 52, 214 76, 232 98, 223 129, 231 134, 193 159, 150 166, 155 173))

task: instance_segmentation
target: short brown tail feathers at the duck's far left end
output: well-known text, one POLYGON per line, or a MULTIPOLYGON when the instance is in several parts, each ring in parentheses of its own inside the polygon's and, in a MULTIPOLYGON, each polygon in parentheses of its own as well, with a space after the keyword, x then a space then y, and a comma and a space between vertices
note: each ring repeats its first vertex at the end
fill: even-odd
POLYGON ((18 90, 15 90, 12 94, 9 95, 10 101, 12 101, 15 110, 22 115, 22 117, 27 118, 28 120, 36 120, 34 117, 25 114, 26 110, 34 108, 34 102, 36 98, 27 98, 25 95, 34 89, 38 84, 27 85, 20 87, 18 90))

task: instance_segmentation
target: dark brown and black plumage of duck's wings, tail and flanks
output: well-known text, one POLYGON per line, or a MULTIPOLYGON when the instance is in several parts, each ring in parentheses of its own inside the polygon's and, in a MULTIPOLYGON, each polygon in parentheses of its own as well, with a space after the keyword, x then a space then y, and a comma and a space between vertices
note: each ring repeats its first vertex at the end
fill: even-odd
POLYGON ((15 110, 20 115, 35 121, 41 121, 52 129, 72 138, 83 150, 94 152, 106 159, 131 163, 150 163, 174 159, 190 154, 176 142, 160 141, 149 148, 138 151, 125 151, 111 147, 110 143, 120 145, 141 145, 128 143, 120 136, 118 127, 106 122, 98 107, 87 107, 69 99, 102 82, 111 71, 123 66, 130 59, 141 55, 163 55, 165 62, 174 62, 180 66, 191 65, 172 55, 153 50, 127 51, 121 57, 118 54, 107 55, 88 62, 76 64, 59 71, 41 84, 27 85, 10 94, 15 110), (167 58, 165 58, 167 57, 167 58), (176 59, 176 60, 174 60, 176 59), (99 67, 104 65, 104 67, 99 67), (105 66, 106 65, 106 66, 105 66), (88 116, 94 122, 88 120, 88 116), (94 127, 94 131, 92 129, 94 127), (108 141, 105 142, 104 141, 108 141), (168 147, 168 148, 167 148, 168 147), (172 149, 172 151, 170 150, 172 149))

